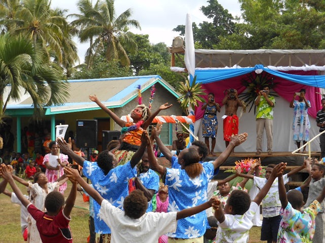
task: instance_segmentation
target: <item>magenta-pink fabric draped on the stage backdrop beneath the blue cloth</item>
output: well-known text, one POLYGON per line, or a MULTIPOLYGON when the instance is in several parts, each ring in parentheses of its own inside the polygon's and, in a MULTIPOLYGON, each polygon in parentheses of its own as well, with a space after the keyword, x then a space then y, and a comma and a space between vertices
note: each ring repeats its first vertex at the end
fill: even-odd
MULTIPOLYGON (((317 71, 287 71, 284 73, 296 74, 296 75, 317 75, 317 71)), ((253 74, 254 75, 254 74, 253 74)), ((237 76, 234 78, 222 80, 219 82, 214 82, 210 84, 202 85, 202 88, 205 89, 205 93, 207 94, 204 96, 205 100, 207 100, 208 93, 213 93, 215 97, 215 101, 222 106, 222 99, 224 97, 224 91, 227 89, 236 89, 238 94, 243 93, 246 90, 246 87, 242 84, 242 79, 245 78, 247 74, 242 76, 237 76)), ((273 76, 274 82, 277 83, 274 91, 282 98, 290 102, 293 99, 293 95, 295 92, 299 92, 301 89, 306 89, 306 98, 311 103, 311 108, 308 109, 308 114, 312 117, 316 117, 316 113, 318 110, 321 109, 321 95, 316 94, 320 93, 319 88, 305 86, 298 83, 291 82, 289 80, 273 76)), ((276 103, 276 97, 275 97, 276 103)), ((204 110, 201 110, 203 103, 199 103, 199 106, 195 109, 195 118, 200 119, 203 117, 204 110)), ((289 107, 289 104, 288 104, 289 107)))

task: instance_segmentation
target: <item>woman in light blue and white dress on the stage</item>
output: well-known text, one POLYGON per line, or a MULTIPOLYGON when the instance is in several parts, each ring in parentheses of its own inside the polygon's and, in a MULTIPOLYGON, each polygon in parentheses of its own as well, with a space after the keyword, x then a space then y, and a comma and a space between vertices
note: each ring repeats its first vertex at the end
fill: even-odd
MULTIPOLYGON (((297 143, 297 148, 300 148, 300 142, 303 141, 304 144, 309 141, 309 129, 310 123, 308 118, 308 108, 311 107, 310 101, 306 100, 305 94, 306 90, 301 89, 299 95, 299 100, 295 100, 297 93, 294 94, 293 100, 290 102, 290 108, 294 108, 294 141, 297 143)), ((303 152, 306 151, 306 147, 303 148, 303 152)))

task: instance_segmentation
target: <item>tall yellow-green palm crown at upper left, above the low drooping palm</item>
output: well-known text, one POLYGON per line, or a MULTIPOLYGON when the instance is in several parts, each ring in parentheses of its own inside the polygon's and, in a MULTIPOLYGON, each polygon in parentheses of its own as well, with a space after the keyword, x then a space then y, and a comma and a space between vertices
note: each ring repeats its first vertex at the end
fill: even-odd
POLYGON ((23 0, 15 16, 20 23, 13 31, 40 45, 49 60, 54 58, 58 65, 70 64, 78 60, 71 28, 63 17, 64 11, 51 9, 50 3, 49 0, 23 0), (66 60, 68 57, 70 60, 66 60))

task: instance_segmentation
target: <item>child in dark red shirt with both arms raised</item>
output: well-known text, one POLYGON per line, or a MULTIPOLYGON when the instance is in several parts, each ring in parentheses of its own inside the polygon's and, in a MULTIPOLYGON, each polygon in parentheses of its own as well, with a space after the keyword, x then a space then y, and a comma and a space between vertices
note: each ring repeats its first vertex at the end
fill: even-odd
POLYGON ((12 177, 12 173, 5 165, 0 167, 0 175, 10 184, 29 214, 36 220, 37 228, 43 243, 72 242, 72 234, 69 227, 70 213, 77 196, 77 181, 70 179, 72 188, 64 206, 64 196, 58 191, 50 192, 45 198, 47 212, 37 209, 24 197, 12 177))

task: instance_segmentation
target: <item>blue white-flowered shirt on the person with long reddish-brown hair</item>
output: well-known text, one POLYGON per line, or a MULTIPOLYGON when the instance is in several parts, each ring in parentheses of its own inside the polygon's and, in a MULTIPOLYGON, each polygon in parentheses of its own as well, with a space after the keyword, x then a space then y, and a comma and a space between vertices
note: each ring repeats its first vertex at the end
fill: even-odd
MULTIPOLYGON (((185 170, 167 168, 165 184, 169 187, 168 212, 181 211, 207 201, 207 187, 213 176, 214 166, 208 162, 202 166, 202 173, 193 179, 189 178, 185 170)), ((183 239, 201 237, 206 231, 207 223, 206 212, 202 211, 179 219, 176 232, 170 232, 168 236, 183 239)))

